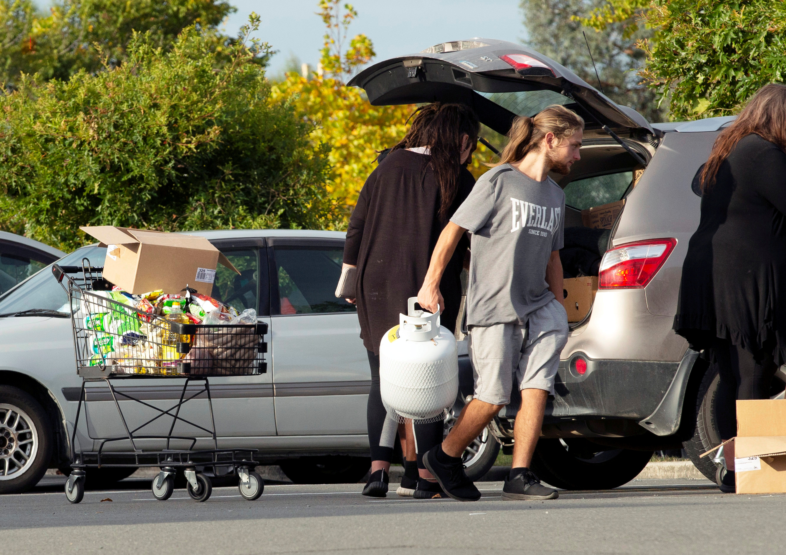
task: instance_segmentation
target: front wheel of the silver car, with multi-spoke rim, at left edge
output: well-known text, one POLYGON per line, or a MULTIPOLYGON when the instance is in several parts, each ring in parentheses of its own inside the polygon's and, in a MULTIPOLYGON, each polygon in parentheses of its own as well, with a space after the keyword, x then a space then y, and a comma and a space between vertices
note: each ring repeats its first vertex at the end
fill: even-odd
POLYGON ((41 404, 23 389, 0 385, 0 494, 39 483, 52 459, 54 438, 41 404))

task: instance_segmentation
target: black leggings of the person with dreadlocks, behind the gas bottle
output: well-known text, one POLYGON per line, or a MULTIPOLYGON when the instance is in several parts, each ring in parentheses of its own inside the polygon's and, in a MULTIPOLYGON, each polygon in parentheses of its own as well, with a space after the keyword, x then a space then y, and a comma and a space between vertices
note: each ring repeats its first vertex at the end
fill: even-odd
MULTIPOLYGON (((369 391, 369 404, 366 408, 366 419, 369 425, 369 445, 371 446, 372 461, 391 462, 393 458, 393 447, 380 445, 382 428, 384 427, 387 411, 382 404, 380 393, 380 356, 373 351, 369 353, 369 367, 371 367, 371 391, 369 391)), ((425 469, 423 465, 423 455, 426 451, 442 443, 443 440, 443 421, 419 424, 415 421, 415 451, 417 453, 417 468, 425 469)))

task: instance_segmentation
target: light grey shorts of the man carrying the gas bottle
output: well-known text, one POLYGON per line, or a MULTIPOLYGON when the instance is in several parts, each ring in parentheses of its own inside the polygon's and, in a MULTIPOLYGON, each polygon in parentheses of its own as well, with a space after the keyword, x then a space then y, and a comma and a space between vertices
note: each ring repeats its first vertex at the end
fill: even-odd
POLYGON ((556 299, 533 312, 527 324, 498 323, 469 330, 475 398, 510 403, 513 375, 518 389, 554 394, 560 352, 567 343, 567 313, 556 299))

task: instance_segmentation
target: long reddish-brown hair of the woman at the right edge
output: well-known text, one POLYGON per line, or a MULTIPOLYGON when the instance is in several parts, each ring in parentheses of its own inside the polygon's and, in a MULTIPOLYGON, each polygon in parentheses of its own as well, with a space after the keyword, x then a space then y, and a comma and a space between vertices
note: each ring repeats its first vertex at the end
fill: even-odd
POLYGON ((737 119, 721 131, 701 173, 701 192, 710 190, 723 161, 729 157, 737 142, 751 133, 786 151, 786 85, 770 83, 762 86, 737 119))

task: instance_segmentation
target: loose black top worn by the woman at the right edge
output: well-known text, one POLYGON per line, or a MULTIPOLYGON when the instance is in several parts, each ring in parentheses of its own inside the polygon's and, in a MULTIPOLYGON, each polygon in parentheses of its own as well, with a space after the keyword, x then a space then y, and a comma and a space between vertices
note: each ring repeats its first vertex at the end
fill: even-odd
POLYGON ((696 349, 714 337, 786 362, 786 153, 751 134, 701 199, 682 265, 674 330, 696 349))

